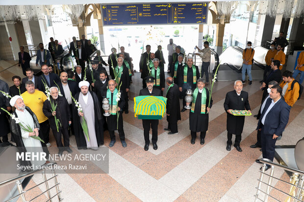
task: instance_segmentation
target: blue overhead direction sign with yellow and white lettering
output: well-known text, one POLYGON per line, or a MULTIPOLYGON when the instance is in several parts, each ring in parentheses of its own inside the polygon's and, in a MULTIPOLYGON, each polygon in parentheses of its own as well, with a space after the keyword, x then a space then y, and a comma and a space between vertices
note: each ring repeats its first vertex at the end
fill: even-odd
POLYGON ((208 3, 102 4, 103 26, 207 23, 208 3))

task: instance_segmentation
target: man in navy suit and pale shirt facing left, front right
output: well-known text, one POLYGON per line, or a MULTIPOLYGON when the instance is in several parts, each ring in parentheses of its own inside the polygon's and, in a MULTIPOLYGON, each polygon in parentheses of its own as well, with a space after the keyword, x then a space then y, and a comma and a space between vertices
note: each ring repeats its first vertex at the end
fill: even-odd
MULTIPOLYGON (((270 98, 266 101, 256 128, 256 130, 261 131, 263 158, 268 158, 271 161, 275 157, 277 138, 283 133, 289 119, 290 107, 281 97, 281 93, 282 89, 278 85, 271 88, 270 98)), ((269 168, 270 165, 266 164, 265 171, 269 168)))

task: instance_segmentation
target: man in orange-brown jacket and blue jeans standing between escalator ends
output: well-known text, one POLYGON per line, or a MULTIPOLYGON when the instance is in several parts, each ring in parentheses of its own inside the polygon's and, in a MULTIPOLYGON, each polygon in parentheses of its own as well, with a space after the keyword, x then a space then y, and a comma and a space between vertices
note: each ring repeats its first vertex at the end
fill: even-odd
POLYGON ((251 67, 253 65, 253 55, 254 50, 251 48, 252 43, 247 43, 247 48, 243 51, 243 67, 242 67, 242 82, 245 84, 245 73, 247 69, 247 74, 249 76, 249 85, 253 83, 253 77, 251 75, 251 67))

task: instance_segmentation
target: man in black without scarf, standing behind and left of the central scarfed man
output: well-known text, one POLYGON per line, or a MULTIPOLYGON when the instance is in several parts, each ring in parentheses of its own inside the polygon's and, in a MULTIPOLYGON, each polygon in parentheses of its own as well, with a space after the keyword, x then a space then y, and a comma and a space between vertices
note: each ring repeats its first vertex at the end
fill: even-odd
MULTIPOLYGON (((141 72, 140 78, 143 79, 143 89, 147 87, 145 78, 147 76, 150 76, 150 72, 149 72, 150 51, 151 51, 151 45, 146 45, 146 52, 141 54, 140 60, 139 60, 139 71, 141 72)), ((154 58, 155 58, 155 55, 154 55, 154 58)), ((152 64, 151 64, 151 67, 152 67, 152 64)))

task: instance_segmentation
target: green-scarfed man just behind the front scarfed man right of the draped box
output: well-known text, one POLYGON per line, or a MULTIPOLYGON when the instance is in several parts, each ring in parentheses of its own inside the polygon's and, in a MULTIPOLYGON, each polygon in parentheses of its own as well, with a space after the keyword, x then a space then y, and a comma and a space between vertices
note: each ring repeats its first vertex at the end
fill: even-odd
POLYGON ((182 97, 182 110, 180 112, 186 111, 186 91, 188 89, 193 90, 196 89, 196 81, 200 78, 200 71, 198 66, 193 65, 193 57, 189 56, 187 58, 187 65, 180 69, 180 74, 178 78, 178 87, 181 92, 182 97))

